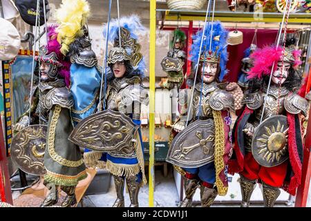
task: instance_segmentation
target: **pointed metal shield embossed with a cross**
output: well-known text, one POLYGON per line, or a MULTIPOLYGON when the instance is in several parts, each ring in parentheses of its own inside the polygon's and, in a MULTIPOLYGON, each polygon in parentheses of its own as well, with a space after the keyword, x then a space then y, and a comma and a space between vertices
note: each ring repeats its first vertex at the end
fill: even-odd
POLYGON ((196 168, 212 162, 214 140, 214 121, 196 120, 173 139, 167 154, 167 162, 186 168, 196 168))

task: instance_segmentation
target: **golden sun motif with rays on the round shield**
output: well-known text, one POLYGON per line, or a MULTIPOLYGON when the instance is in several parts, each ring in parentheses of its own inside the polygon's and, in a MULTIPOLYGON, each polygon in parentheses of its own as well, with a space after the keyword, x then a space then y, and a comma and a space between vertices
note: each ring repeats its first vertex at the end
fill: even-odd
POLYGON ((288 127, 278 120, 277 125, 265 126, 265 133, 258 137, 258 155, 267 162, 279 162, 288 153, 288 127))

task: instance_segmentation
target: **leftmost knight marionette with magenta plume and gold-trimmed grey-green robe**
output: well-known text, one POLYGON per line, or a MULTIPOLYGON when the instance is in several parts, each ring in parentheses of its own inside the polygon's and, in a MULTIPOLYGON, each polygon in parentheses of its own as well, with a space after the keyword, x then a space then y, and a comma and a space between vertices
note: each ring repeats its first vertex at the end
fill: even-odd
POLYGON ((39 84, 33 90, 30 113, 25 113, 15 126, 19 133, 14 148, 17 153, 23 149, 28 155, 27 163, 23 164, 25 168, 21 168, 24 171, 31 169, 30 173, 41 175, 38 171, 43 167, 44 184, 50 192, 41 206, 57 204, 60 187, 67 194, 62 206, 69 207, 77 202, 75 186, 87 174, 79 146, 68 141, 73 131, 70 116, 73 96, 64 76, 69 76, 70 62, 59 52, 61 46, 55 29, 56 26, 48 29, 48 46, 41 48, 40 55, 35 57, 39 64, 39 84))

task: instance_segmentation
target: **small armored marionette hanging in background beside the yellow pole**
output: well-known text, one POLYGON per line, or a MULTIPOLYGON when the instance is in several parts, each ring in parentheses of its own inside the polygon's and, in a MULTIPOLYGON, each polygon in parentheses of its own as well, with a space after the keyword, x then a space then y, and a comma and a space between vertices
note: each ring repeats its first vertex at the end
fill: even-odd
POLYGON ((186 52, 182 50, 185 46, 186 40, 185 32, 176 29, 173 32, 173 39, 171 41, 171 50, 167 52, 167 57, 161 62, 162 69, 167 73, 167 85, 165 88, 178 90, 184 79, 183 66, 187 57, 186 52))

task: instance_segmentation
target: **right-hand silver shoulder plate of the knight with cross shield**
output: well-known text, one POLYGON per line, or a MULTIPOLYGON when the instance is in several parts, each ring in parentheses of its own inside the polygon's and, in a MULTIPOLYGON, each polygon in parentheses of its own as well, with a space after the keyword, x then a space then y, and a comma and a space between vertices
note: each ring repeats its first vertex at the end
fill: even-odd
POLYGON ((209 98, 209 106, 215 111, 229 109, 234 111, 234 97, 225 90, 215 90, 209 98))

